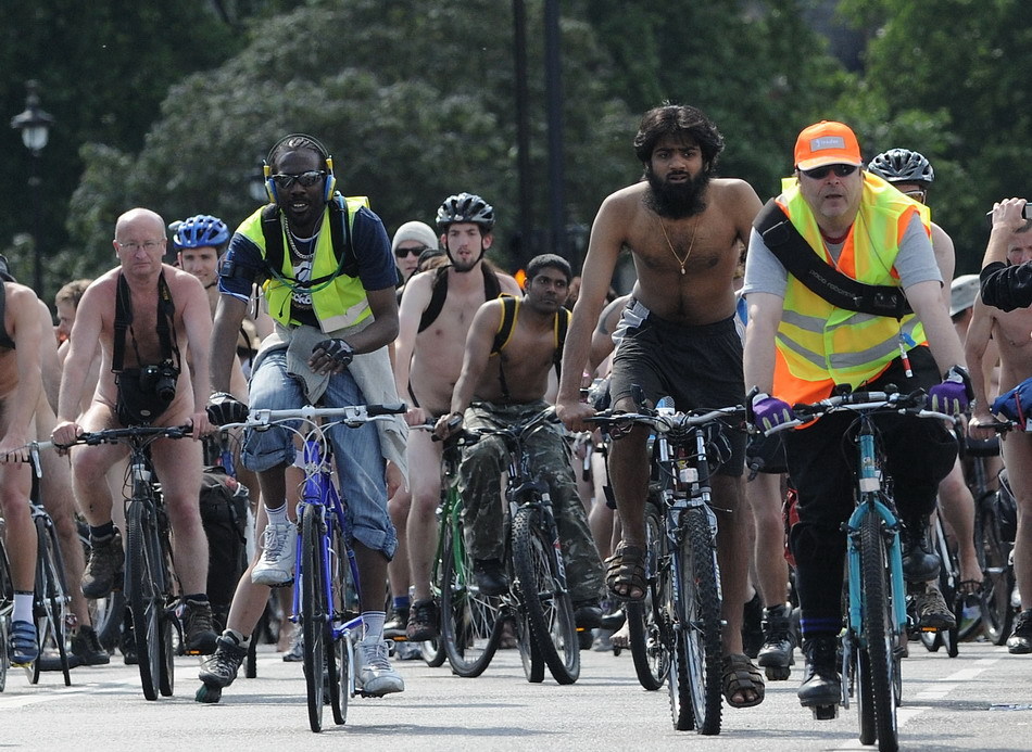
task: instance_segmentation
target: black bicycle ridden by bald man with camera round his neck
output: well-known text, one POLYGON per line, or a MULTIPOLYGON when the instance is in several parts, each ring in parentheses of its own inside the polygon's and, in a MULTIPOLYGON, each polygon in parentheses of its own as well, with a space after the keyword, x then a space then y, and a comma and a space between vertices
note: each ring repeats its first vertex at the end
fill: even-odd
POLYGON ((79 434, 67 445, 122 444, 129 449, 127 479, 131 495, 126 499, 123 592, 133 620, 140 685, 143 697, 152 701, 159 693, 173 694, 174 635, 181 642, 181 634, 176 616, 180 592, 173 569, 168 512, 150 468, 148 447, 160 438, 187 437, 192 430, 191 425, 104 429, 79 434))

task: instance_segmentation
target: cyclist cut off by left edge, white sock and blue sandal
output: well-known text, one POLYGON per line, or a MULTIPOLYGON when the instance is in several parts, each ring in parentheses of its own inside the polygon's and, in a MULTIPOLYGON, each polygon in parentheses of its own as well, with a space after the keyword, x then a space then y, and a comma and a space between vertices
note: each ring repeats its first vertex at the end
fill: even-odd
MULTIPOLYGON (((7 259, 2 259, 4 271, 7 259)), ((42 393, 39 342, 45 332, 39 298, 29 288, 0 278, 0 513, 14 584, 11 616, 11 663, 38 657, 33 589, 36 583, 36 528, 28 509, 33 479, 25 445, 35 438, 34 413, 42 393)))

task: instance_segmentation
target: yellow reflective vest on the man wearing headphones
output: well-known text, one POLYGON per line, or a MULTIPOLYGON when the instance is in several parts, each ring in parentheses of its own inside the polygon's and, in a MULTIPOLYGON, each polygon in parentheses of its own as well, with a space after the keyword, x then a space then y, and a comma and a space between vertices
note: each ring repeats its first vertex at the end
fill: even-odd
MULTIPOLYGON (((348 201, 348 221, 353 221, 354 214, 365 204, 360 200, 347 199, 348 201)), ((329 277, 337 271, 339 262, 333 253, 333 241, 329 231, 328 222, 332 220, 329 207, 323 213, 323 228, 325 232, 319 232, 315 244, 315 257, 312 263, 312 279, 329 277)), ((243 220, 237 230, 248 240, 254 243, 262 257, 265 257, 265 237, 262 233, 262 209, 243 220)), ((286 242, 286 239, 285 239, 286 242)), ((286 246, 289 247, 289 244, 286 246)), ((287 279, 294 279, 293 265, 290 260, 290 254, 284 254, 282 269, 280 273, 287 279)), ((290 317, 291 289, 282 282, 269 278, 263 285, 265 291, 265 301, 268 305, 268 315, 284 326, 297 326, 300 323, 297 319, 290 317)), ((328 284, 319 284, 314 288, 312 293, 312 309, 315 317, 319 320, 319 327, 324 332, 332 332, 344 327, 351 327, 367 318, 372 310, 369 301, 366 296, 365 288, 362 286, 362 280, 357 277, 339 275, 328 284), (319 290, 322 288, 322 290, 319 290)))

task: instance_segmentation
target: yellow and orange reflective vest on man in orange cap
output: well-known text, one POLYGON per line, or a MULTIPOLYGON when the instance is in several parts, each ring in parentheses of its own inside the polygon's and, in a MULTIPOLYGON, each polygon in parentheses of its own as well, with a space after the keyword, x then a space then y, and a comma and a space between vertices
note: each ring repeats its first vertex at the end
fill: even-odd
MULTIPOLYGON (((863 175, 860 209, 838 268, 867 284, 898 286, 893 266, 899 242, 915 213, 931 233, 929 212, 881 178, 863 175)), ((786 178, 782 190, 778 204, 810 247, 833 265, 798 181, 786 178)), ((913 314, 896 320, 839 308, 789 275, 778 327, 773 394, 792 405, 823 399, 835 384, 856 388, 877 378, 899 355, 901 337, 907 349, 926 342, 924 329, 913 314)))

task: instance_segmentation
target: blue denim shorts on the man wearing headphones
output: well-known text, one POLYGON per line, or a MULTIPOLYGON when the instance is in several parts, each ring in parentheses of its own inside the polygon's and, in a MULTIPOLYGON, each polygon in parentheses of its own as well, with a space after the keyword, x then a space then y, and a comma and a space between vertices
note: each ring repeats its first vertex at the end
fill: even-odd
MULTIPOLYGON (((285 410, 307 404, 300 379, 287 372, 287 350, 268 353, 251 375, 251 408, 285 410)), ((320 405, 344 407, 364 405, 365 397, 347 370, 329 380, 320 405)), ((294 423, 295 425, 297 423, 294 423)), ((357 429, 336 425, 329 431, 333 455, 337 458, 337 480, 344 510, 351 521, 355 540, 366 548, 394 556, 398 537, 387 515, 387 483, 383 479, 385 460, 376 423, 357 429)), ((241 461, 243 467, 262 472, 294 460, 293 434, 285 428, 273 426, 244 434, 241 461)))

